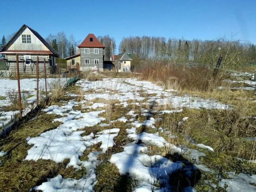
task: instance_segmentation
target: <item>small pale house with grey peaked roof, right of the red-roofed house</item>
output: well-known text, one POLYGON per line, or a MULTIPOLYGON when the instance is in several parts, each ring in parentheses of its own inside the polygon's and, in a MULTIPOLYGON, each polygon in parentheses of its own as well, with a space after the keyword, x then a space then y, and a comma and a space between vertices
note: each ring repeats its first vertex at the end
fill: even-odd
POLYGON ((111 55, 111 60, 115 62, 116 72, 131 72, 131 61, 127 53, 123 55, 111 55))

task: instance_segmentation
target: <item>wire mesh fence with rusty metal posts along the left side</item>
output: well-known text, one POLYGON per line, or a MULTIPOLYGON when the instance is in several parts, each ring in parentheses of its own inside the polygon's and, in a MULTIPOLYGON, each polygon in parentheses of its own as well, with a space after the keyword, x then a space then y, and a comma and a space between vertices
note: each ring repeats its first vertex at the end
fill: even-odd
POLYGON ((0 136, 6 134, 7 128, 17 119, 33 113, 34 109, 54 97, 58 89, 65 89, 78 80, 80 73, 79 64, 50 67, 50 61, 39 57, 33 63, 32 73, 31 70, 24 71, 24 62, 18 56, 13 64, 5 60, 0 63, 4 69, 0 70, 0 136), (9 70, 4 68, 6 65, 9 65, 9 70))

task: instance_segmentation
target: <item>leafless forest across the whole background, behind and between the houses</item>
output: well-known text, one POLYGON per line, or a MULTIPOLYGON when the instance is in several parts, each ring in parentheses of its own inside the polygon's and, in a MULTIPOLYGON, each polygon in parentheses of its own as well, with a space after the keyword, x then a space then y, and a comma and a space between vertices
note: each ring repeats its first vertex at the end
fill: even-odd
MULTIPOLYGON (((8 35, 7 42, 15 33, 8 35)), ((98 36, 98 40, 106 47, 105 60, 110 59, 113 52, 117 50, 116 41, 109 35, 98 36)), ((59 52, 60 58, 70 57, 78 54, 77 46, 82 40, 76 40, 71 34, 65 32, 49 34, 46 41, 59 52)), ((5 37, 2 37, 0 47, 6 44, 5 37)), ((164 63, 201 63, 214 67, 218 58, 222 55, 222 68, 236 68, 238 66, 256 62, 255 45, 236 39, 235 35, 217 38, 215 40, 186 40, 165 37, 123 37, 118 48, 119 53, 129 53, 133 58, 133 65, 148 65, 164 63)))

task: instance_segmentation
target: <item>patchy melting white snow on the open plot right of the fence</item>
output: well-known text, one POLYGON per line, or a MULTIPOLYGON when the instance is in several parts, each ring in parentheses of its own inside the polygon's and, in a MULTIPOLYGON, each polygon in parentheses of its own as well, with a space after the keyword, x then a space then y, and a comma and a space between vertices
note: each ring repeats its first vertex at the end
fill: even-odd
MULTIPOLYGON (((53 122, 60 122, 61 124, 56 129, 41 133, 38 137, 27 138, 27 143, 31 145, 31 148, 28 150, 26 160, 46 159, 58 163, 63 162, 64 159, 69 159, 67 167, 73 166, 75 169, 85 167, 86 175, 78 180, 63 178, 62 175, 58 175, 54 178, 48 178, 48 181, 41 185, 33 187, 34 190, 44 192, 94 191, 94 186, 97 183, 96 166, 101 163, 97 157, 116 145, 114 140, 121 130, 121 127, 113 126, 116 122, 126 124, 126 136, 132 142, 121 146, 123 151, 112 154, 109 161, 117 167, 119 174, 129 175, 138 181, 134 191, 171 191, 170 180, 173 179, 172 175, 181 170, 188 177, 192 176, 192 172, 197 169, 216 174, 214 170, 209 169, 199 161, 199 157, 206 154, 196 149, 175 146, 161 137, 160 133, 166 132, 166 130, 156 127, 156 119, 153 117, 153 113, 142 108, 142 106, 151 106, 154 114, 160 115, 163 113, 180 113, 183 107, 188 109, 214 108, 224 110, 230 109, 229 106, 218 101, 205 100, 190 95, 177 96, 175 90, 164 90, 161 86, 138 79, 80 80, 76 85, 81 86, 84 91, 90 90, 90 93, 85 93, 84 101, 70 100, 69 102, 63 102, 62 106, 52 105, 44 110, 47 114, 60 115, 60 118, 53 119, 53 122), (92 90, 94 90, 94 93, 91 93, 92 90), (148 96, 145 96, 145 94, 148 96), (101 99, 102 102, 92 102, 95 99, 101 99), (115 106, 126 109, 129 105, 140 106, 141 116, 146 117, 146 119, 144 121, 137 120, 138 114, 135 114, 135 111, 130 108, 128 113, 120 114, 112 121, 107 120, 102 115, 106 113, 109 100, 116 100, 117 105, 115 106), (82 106, 81 108, 84 110, 74 110, 76 106, 82 106), (168 109, 162 110, 165 106, 168 109), (95 126, 101 127, 102 130, 96 134, 84 135, 87 128, 94 128, 95 126), (153 129, 155 133, 138 132, 143 127, 153 129), (101 150, 91 151, 87 156, 87 161, 79 159, 84 155, 85 150, 98 143, 101 144, 101 150), (149 147, 151 148, 151 146, 167 148, 174 153, 183 154, 186 158, 194 160, 195 164, 184 166, 180 161, 172 162, 161 155, 150 155, 149 147)), ((73 96, 76 97, 77 95, 73 96)), ((179 126, 187 119, 188 117, 183 117, 179 126)), ((175 138, 175 135, 170 136, 175 138)), ((215 153, 210 146, 195 143, 194 146, 215 153)), ((256 175, 249 177, 245 174, 237 176, 233 174, 230 178, 230 180, 221 179, 219 185, 224 187, 226 184, 233 191, 242 191, 244 186, 249 187, 248 189, 251 191, 255 188, 251 183, 255 182, 256 175), (235 182, 232 182, 233 180, 235 182), (232 183, 235 183, 235 185, 232 186, 232 183)), ((211 185, 214 188, 214 184, 211 183, 211 185)), ((183 191, 193 190, 193 187, 183 188, 183 191)))

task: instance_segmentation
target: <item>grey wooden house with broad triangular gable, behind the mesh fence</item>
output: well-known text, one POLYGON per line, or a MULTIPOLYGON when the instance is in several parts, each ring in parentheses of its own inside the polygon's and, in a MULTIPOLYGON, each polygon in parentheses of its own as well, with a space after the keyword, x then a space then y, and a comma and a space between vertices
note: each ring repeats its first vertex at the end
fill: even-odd
POLYGON ((37 56, 39 57, 39 71, 44 70, 44 59, 46 60, 47 73, 56 70, 55 58, 59 57, 43 37, 27 25, 23 25, 10 39, 0 54, 6 55, 6 69, 16 73, 16 54, 20 74, 36 74, 37 56))

